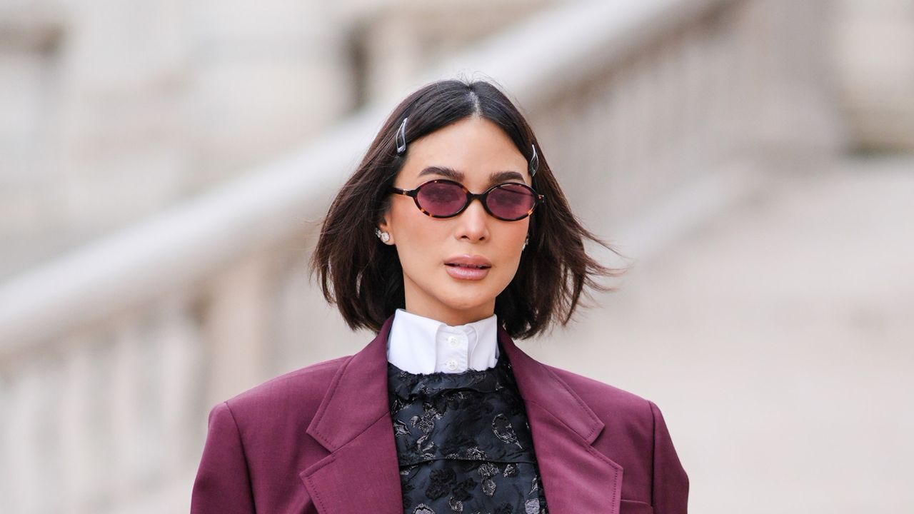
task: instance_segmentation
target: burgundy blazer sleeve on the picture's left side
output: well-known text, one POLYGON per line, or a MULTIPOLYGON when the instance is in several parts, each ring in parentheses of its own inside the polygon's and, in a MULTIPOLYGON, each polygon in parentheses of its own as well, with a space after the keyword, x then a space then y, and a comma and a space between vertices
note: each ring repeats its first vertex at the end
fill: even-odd
POLYGON ((254 514, 244 444, 228 403, 219 403, 209 412, 207 443, 194 481, 190 512, 254 514))

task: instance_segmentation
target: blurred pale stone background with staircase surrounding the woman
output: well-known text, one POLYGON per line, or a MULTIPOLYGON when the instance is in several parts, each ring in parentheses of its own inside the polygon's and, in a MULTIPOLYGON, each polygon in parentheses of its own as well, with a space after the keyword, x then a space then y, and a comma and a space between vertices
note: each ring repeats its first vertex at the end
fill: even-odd
POLYGON ((0 0, 0 510, 186 512, 209 408, 362 348, 317 223, 455 77, 630 267, 521 348, 656 402, 691 511, 914 512, 912 0, 0 0))

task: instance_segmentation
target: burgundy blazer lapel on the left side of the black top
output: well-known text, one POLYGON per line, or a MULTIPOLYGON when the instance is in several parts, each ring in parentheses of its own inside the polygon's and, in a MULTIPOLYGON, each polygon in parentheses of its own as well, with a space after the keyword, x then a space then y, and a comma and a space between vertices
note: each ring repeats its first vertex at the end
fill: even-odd
POLYGON ((308 426, 308 434, 330 452, 299 474, 321 514, 403 512, 388 409, 392 320, 336 373, 308 426))

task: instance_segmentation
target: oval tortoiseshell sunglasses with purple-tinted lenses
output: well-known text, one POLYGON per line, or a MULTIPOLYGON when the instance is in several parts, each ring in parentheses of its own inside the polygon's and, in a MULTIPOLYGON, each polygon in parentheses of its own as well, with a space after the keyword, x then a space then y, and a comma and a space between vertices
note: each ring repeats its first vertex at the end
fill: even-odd
POLYGON ((412 197, 416 207, 432 218, 453 218, 469 207, 473 198, 479 198, 485 211, 494 218, 517 221, 532 214, 546 200, 533 187, 515 182, 496 184, 478 195, 459 182, 444 179, 430 180, 415 189, 391 187, 390 190, 412 197))

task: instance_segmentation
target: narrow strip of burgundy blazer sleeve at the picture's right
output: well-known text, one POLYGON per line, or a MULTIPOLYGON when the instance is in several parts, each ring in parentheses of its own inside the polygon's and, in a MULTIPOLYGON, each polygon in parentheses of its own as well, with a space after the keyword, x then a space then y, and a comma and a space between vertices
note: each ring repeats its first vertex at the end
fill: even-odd
POLYGON ((651 402, 654 414, 654 514, 686 514, 688 477, 673 447, 664 416, 651 402))

